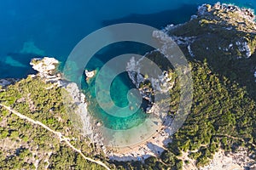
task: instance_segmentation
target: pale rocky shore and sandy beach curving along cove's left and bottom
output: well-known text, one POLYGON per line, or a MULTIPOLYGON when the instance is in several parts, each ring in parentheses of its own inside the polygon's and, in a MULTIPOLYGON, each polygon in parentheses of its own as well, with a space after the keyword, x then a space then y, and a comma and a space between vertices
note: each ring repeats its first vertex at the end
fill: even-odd
POLYGON ((38 71, 38 74, 31 75, 31 77, 41 77, 46 83, 50 82, 54 86, 67 90, 72 99, 64 101, 65 105, 72 105, 73 103, 77 105, 75 114, 78 117, 70 117, 74 122, 74 127, 78 128, 84 136, 89 137, 91 142, 96 144, 96 147, 102 150, 110 160, 143 161, 149 156, 160 156, 160 154, 166 150, 165 146, 171 142, 168 135, 170 129, 167 125, 172 122, 171 117, 166 117, 166 124, 160 126, 154 134, 152 134, 148 139, 144 139, 142 143, 140 142, 138 144, 132 144, 131 146, 125 147, 108 147, 107 145, 104 145, 101 125, 94 120, 93 117, 89 116, 86 97, 79 90, 79 87, 74 82, 68 82, 64 77, 61 77, 61 74, 58 73, 58 71, 55 71, 56 65, 59 63, 56 59, 45 57, 43 59, 36 60, 37 62, 32 61, 31 65, 36 71, 38 71), (47 67, 44 66, 45 63, 47 63, 47 67))

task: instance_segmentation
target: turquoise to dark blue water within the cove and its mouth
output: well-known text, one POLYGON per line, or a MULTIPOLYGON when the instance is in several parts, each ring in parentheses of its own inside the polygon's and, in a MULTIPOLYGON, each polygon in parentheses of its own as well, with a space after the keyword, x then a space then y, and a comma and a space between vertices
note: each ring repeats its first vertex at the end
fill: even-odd
MULTIPOLYGON (((152 48, 139 43, 114 43, 106 48, 102 48, 102 50, 100 50, 95 57, 90 60, 89 64, 86 66, 86 69, 98 71, 100 68, 102 68, 102 65, 108 61, 108 59, 113 58, 114 56, 118 56, 123 53, 145 54, 148 50, 152 50, 152 48)), ((108 75, 112 74, 112 71, 106 72, 105 74, 106 77, 108 77, 108 75)), ((84 89, 86 97, 90 98, 88 106, 90 114, 94 115, 96 119, 102 122, 105 127, 114 130, 125 130, 130 129, 131 127, 137 127, 145 121, 148 115, 144 113, 143 108, 139 109, 135 114, 125 117, 122 117, 122 115, 119 115, 119 117, 111 116, 104 111, 96 101, 95 78, 96 77, 87 82, 82 81, 82 88, 84 89)), ((82 80, 85 80, 85 77, 83 77, 82 80)), ((104 82, 102 82, 101 86, 104 86, 104 82)), ((131 88, 136 87, 134 84, 132 84, 127 73, 124 72, 115 77, 110 88, 110 95, 113 99, 113 103, 119 107, 127 106, 127 93, 131 88)))

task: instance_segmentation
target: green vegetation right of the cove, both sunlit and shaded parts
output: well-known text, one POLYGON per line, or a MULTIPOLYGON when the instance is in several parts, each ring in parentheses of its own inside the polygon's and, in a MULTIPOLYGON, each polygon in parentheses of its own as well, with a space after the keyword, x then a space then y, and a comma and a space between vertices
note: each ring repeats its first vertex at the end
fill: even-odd
MULTIPOLYGON (((194 58, 188 52, 188 44, 180 45, 184 54, 190 56, 193 67, 192 110, 183 127, 173 135, 168 150, 177 157, 189 152, 198 167, 206 165, 219 148, 236 151, 245 147, 255 155, 256 83, 252 71, 256 65, 256 34, 253 24, 236 13, 213 10, 168 33, 196 37, 190 42, 194 58), (252 52, 248 59, 236 44, 244 41, 252 52)), ((175 96, 173 108, 178 104, 177 88, 173 88, 171 94, 175 96)))

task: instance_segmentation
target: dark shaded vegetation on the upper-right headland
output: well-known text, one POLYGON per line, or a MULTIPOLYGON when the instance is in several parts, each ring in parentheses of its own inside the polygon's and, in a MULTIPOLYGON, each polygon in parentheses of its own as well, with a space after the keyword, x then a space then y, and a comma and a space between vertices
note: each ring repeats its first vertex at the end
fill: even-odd
POLYGON ((256 83, 253 77, 256 65, 255 22, 245 20, 236 12, 211 10, 207 15, 171 29, 168 34, 194 37, 189 44, 195 58, 190 56, 188 44, 180 45, 185 56, 191 61, 207 59, 215 74, 238 82, 241 88, 246 88, 251 98, 256 99, 256 83), (252 53, 249 58, 246 51, 239 49, 244 48, 243 42, 247 42, 252 53))

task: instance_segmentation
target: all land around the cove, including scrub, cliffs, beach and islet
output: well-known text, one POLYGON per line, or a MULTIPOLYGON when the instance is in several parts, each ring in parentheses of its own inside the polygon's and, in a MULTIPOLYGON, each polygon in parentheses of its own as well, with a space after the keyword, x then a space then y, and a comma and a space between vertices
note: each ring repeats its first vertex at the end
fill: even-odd
MULTIPOLYGON (((147 114, 157 115, 160 111, 154 103, 154 93, 171 94, 164 123, 140 144, 125 148, 105 146, 99 131, 102 124, 87 111, 86 96, 77 84, 56 71, 59 61, 54 58, 32 59, 37 75, 0 80, 0 104, 65 134, 81 153, 112 169, 255 168, 253 10, 230 4, 203 4, 188 22, 154 31, 152 37, 161 41, 165 38, 162 32, 172 37, 189 59, 195 87, 191 114, 175 134, 171 135, 170 124, 178 108, 180 82, 172 65, 166 64, 161 51, 164 48, 144 55, 161 66, 163 74, 158 80, 140 74, 140 60, 131 58, 125 65, 131 82, 147 101, 147 114)), ((96 71, 84 73, 88 78, 96 76, 96 71)), ((84 162, 77 152, 68 150, 44 129, 20 121, 3 107, 0 111, 0 148, 4 150, 0 167, 100 168, 84 162)))

